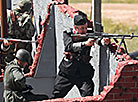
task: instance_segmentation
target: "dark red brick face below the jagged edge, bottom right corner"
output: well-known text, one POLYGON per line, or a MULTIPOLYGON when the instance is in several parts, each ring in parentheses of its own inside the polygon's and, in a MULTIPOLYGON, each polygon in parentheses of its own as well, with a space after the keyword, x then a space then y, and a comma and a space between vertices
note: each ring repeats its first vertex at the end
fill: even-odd
POLYGON ((125 66, 103 102, 138 102, 138 65, 125 66))

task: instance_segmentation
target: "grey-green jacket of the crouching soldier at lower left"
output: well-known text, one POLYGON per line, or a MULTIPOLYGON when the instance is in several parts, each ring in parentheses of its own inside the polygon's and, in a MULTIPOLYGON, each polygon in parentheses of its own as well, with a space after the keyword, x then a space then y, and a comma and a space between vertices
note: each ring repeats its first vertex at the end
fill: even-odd
POLYGON ((17 60, 12 61, 4 73, 4 102, 26 102, 23 91, 27 90, 26 78, 17 64, 17 60))

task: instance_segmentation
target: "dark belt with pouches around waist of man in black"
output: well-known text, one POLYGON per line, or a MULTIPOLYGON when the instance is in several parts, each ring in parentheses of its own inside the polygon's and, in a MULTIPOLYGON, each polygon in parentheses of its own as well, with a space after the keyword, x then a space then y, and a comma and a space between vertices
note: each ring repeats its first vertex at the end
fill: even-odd
POLYGON ((92 56, 80 55, 80 54, 71 53, 71 52, 65 52, 64 54, 65 54, 65 58, 68 60, 76 59, 78 61, 83 61, 84 63, 89 63, 89 61, 92 58, 92 56))

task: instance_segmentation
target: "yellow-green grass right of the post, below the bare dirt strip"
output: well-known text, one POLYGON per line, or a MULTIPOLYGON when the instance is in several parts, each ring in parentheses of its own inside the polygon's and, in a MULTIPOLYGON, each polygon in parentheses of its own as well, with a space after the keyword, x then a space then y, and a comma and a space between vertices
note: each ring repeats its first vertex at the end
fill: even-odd
MULTIPOLYGON (((104 32, 113 34, 131 34, 138 35, 138 26, 128 26, 122 23, 115 24, 110 19, 103 19, 104 32)), ((113 40, 112 40, 113 41, 113 40)), ((120 40, 119 40, 120 41, 120 40)), ((128 52, 138 51, 138 38, 125 39, 128 52)))

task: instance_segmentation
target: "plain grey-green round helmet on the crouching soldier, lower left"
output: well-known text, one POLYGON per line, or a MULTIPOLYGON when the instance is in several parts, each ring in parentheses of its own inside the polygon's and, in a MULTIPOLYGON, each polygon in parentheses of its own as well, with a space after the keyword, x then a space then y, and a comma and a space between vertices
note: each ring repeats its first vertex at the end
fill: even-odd
POLYGON ((16 58, 23 61, 23 62, 29 63, 30 53, 25 49, 19 49, 16 53, 16 58))

